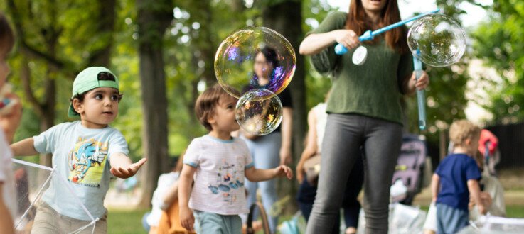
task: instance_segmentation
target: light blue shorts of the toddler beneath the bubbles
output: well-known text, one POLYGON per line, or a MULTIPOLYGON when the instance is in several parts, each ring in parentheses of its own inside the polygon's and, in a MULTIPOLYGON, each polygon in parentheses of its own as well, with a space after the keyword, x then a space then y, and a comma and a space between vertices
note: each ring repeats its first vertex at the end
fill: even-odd
POLYGON ((223 216, 217 213, 193 211, 196 233, 242 233, 242 220, 238 215, 223 216))

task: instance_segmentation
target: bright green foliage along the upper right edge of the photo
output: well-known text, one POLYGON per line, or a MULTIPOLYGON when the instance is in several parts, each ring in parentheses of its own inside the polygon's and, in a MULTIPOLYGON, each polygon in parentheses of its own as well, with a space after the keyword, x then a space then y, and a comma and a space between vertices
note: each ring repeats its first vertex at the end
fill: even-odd
POLYGON ((493 113, 493 123, 524 120, 524 2, 494 1, 489 20, 472 33, 474 55, 493 67, 501 79, 483 76, 490 100, 481 103, 493 113))

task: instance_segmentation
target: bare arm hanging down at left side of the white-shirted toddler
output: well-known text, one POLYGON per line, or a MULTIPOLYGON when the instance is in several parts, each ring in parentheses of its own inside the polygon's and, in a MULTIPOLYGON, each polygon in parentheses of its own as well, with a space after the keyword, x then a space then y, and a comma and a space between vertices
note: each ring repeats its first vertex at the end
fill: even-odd
POLYGON ((193 183, 193 174, 196 167, 183 165, 180 179, 178 179, 178 207, 180 208, 180 223, 183 228, 193 231, 195 217, 193 211, 189 208, 189 197, 191 196, 191 184, 193 183))

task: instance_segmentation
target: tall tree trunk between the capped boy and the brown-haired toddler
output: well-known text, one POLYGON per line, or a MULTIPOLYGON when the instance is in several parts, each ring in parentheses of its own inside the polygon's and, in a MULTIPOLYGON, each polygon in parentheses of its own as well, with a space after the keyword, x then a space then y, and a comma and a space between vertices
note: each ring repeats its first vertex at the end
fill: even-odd
POLYGON ((172 18, 170 1, 137 0, 140 81, 143 109, 143 194, 140 206, 151 206, 161 172, 168 170, 166 74, 162 38, 172 18))

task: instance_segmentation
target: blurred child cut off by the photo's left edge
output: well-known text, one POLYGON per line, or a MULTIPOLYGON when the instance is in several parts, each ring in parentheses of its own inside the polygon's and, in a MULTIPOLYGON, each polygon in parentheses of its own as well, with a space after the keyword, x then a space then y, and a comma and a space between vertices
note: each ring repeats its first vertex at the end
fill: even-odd
MULTIPOLYGON (((14 34, 4 14, 0 12, 0 89, 6 85, 9 65, 7 57, 14 45, 14 34)), ((9 143, 21 120, 21 105, 18 96, 6 94, 11 101, 17 101, 9 113, 0 115, 0 230, 2 233, 14 233, 16 215, 16 190, 11 165, 12 152, 9 143)), ((0 100, 2 101, 2 100, 0 100)))

